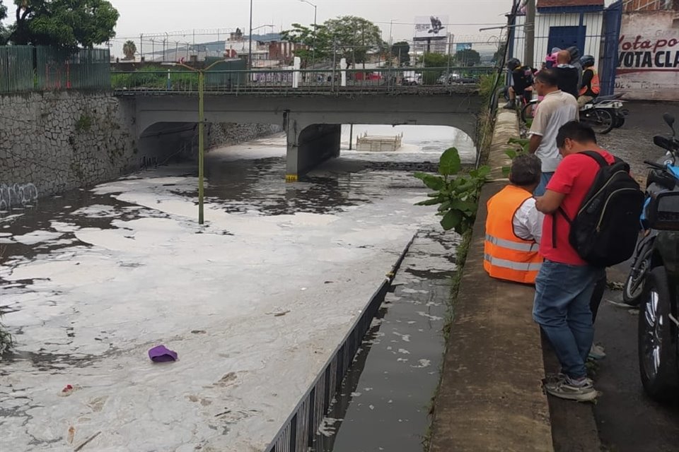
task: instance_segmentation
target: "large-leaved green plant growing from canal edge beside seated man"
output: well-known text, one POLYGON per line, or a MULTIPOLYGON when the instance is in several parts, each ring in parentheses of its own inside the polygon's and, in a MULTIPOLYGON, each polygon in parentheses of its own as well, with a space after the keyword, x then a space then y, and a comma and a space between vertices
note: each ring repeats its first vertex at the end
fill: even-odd
POLYGON ((440 215, 443 230, 455 230, 463 234, 474 224, 479 189, 486 182, 490 168, 482 166, 468 174, 458 174, 462 169, 460 154, 456 148, 448 148, 439 160, 439 174, 417 172, 414 177, 422 180, 427 188, 434 191, 429 199, 420 201, 417 206, 439 204, 436 215, 440 215))

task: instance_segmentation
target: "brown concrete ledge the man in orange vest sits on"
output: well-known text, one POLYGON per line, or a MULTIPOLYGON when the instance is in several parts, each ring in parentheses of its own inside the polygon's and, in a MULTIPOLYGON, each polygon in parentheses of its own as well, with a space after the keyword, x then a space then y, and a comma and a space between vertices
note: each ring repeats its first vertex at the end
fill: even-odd
POLYGON ((553 451, 533 287, 483 270, 486 202, 507 183, 504 150, 516 136, 516 114, 499 112, 489 154, 493 181, 481 191, 434 402, 432 452, 553 451))

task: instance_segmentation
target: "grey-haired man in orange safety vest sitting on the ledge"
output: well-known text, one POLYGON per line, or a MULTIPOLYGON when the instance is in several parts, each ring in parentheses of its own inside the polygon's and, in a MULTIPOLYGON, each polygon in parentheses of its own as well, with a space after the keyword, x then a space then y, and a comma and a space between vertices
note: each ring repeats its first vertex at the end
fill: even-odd
POLYGON ((510 184, 487 203, 483 267, 492 278, 535 284, 542 264, 538 249, 544 218, 533 198, 540 165, 533 154, 518 155, 511 164, 510 184))

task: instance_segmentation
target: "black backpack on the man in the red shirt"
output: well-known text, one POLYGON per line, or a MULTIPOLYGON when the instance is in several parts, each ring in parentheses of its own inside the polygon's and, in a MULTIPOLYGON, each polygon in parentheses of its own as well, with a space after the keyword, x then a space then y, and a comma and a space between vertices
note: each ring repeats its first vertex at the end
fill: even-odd
MULTIPOLYGON (((600 153, 582 154, 596 160, 599 171, 575 218, 568 218, 560 207, 559 212, 571 225, 568 239, 579 256, 592 266, 613 266, 634 254, 644 192, 623 160, 615 157, 609 165, 600 153)), ((556 218, 552 224, 552 244, 556 244, 556 218)))

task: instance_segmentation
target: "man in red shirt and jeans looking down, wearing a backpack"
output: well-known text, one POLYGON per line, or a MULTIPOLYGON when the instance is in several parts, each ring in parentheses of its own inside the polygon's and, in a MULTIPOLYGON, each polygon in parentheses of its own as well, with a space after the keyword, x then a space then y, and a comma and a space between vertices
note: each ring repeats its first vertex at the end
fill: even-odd
POLYGON ((564 124, 557 133, 557 147, 564 160, 547 184, 535 207, 545 213, 540 254, 545 258, 535 280, 533 319, 550 339, 561 363, 559 378, 545 384, 547 393, 571 400, 593 400, 597 393, 587 378, 585 362, 594 329, 590 300, 603 268, 588 265, 569 242, 568 218, 575 218, 594 183, 599 165, 581 154, 600 153, 610 164, 613 155, 596 144, 592 129, 577 121, 564 124))

